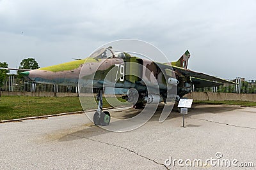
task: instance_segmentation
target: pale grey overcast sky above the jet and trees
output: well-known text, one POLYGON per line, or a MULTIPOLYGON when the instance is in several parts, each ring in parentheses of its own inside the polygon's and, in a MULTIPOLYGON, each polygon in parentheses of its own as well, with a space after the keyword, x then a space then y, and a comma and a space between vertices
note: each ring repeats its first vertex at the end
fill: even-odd
POLYGON ((88 57, 116 39, 141 39, 170 61, 187 49, 188 67, 256 80, 256 1, 0 0, 0 61, 40 67, 88 57))

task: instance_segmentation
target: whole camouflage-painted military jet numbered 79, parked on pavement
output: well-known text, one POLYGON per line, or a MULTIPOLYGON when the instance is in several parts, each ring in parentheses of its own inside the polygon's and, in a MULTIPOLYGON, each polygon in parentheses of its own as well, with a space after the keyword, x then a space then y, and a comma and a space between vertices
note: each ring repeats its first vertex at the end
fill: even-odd
MULTIPOLYGON (((128 89, 123 99, 133 103, 134 108, 138 108, 145 103, 166 103, 170 98, 179 101, 191 92, 193 85, 216 87, 223 83, 234 83, 189 70, 189 57, 190 53, 187 50, 176 62, 160 63, 142 59, 129 52, 120 52, 109 46, 97 50, 86 59, 24 71, 20 74, 36 83, 77 86, 79 80, 83 80, 83 84, 92 85, 92 88, 97 90, 99 99, 93 122, 97 125, 108 125, 110 114, 108 111, 102 111, 104 87, 128 89), (172 92, 168 93, 168 89, 172 89, 172 92)), ((173 102, 172 99, 169 101, 173 102)))

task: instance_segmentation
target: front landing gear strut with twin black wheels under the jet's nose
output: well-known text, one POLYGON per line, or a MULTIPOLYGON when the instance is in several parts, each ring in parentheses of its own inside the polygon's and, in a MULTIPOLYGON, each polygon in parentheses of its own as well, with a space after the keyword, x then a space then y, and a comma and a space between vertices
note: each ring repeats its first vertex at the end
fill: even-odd
POLYGON ((93 115, 93 122, 95 125, 109 125, 110 122, 110 114, 108 111, 102 111, 103 101, 102 101, 102 90, 99 90, 97 94, 97 100, 99 101, 98 109, 93 115))

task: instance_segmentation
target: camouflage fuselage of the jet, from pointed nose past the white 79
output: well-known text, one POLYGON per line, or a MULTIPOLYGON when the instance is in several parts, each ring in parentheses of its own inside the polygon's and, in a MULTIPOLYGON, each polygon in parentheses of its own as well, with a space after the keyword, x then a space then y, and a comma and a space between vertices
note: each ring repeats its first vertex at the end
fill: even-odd
MULTIPOLYGON (((160 89, 166 90, 166 80, 164 78, 166 73, 161 71, 159 64, 138 57, 127 57, 126 59, 117 57, 93 59, 88 57, 83 60, 26 71, 22 74, 33 82, 52 85, 77 86, 79 78, 82 78, 88 86, 92 83, 93 88, 101 88, 105 85, 125 89, 136 88, 145 92, 147 90, 145 82, 147 82, 152 87, 158 84, 160 89), (123 75, 120 74, 120 68, 116 67, 118 65, 124 66, 123 75), (124 76, 123 80, 121 76, 124 76)), ((161 66, 172 69, 171 66, 166 64, 161 64, 161 66)), ((175 77, 175 74, 168 76, 175 77)))

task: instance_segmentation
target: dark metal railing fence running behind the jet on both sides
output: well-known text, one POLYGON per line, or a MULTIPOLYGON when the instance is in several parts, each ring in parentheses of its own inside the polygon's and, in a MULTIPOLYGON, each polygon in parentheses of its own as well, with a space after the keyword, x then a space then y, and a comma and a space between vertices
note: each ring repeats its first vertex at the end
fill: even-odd
MULTIPOLYGON (((194 92, 224 92, 224 93, 244 93, 256 94, 256 80, 244 80, 237 77, 234 80, 237 85, 223 84, 218 87, 193 87, 194 92)), ((4 81, 4 85, 0 87, 1 91, 22 91, 22 92, 72 92, 72 93, 90 93, 91 88, 79 88, 64 85, 48 85, 41 83, 32 83, 31 81, 9 76, 4 81)))

